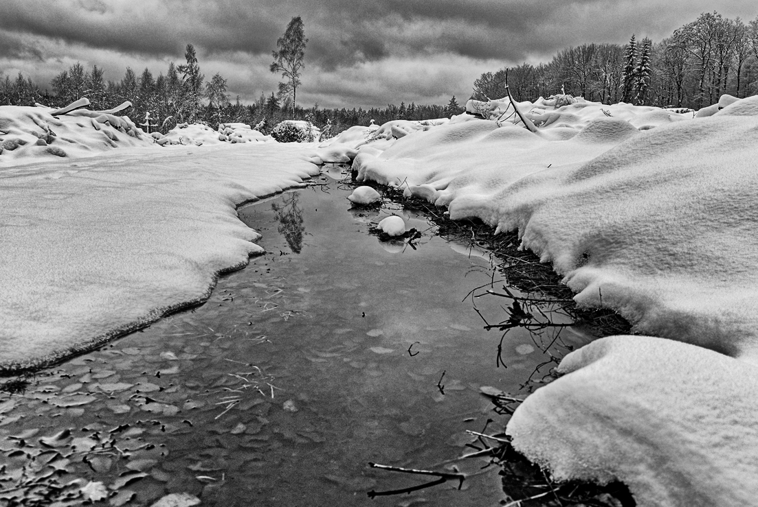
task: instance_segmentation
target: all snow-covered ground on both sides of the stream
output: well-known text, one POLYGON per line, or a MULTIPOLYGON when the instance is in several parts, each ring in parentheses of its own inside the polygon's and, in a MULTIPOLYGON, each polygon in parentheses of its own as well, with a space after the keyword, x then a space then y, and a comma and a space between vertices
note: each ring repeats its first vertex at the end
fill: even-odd
POLYGON ((161 148, 102 115, 0 107, 0 362, 61 356, 202 300, 256 250, 236 204, 354 160, 359 179, 453 219, 518 229, 579 303, 647 335, 566 356, 566 375, 509 422, 517 449, 559 479, 623 481, 638 505, 751 505, 758 98, 722 106, 695 117, 540 99, 519 104, 530 132, 505 102, 471 103, 488 120, 353 127, 318 150, 199 127, 161 148))

